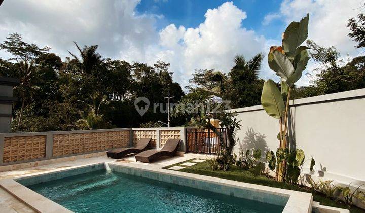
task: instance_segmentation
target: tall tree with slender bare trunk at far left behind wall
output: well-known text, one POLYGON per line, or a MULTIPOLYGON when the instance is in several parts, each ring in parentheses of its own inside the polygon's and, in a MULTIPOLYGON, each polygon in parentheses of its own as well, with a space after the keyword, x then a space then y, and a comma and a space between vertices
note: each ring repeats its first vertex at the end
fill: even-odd
POLYGON ((5 66, 8 66, 7 68, 15 73, 12 77, 20 80, 20 84, 14 88, 22 101, 16 129, 18 131, 26 100, 39 89, 36 86, 36 82, 39 81, 36 59, 46 54, 49 47, 39 48, 35 44, 22 41, 20 34, 12 33, 6 41, 0 43, 0 49, 4 49, 13 56, 7 60, 8 63, 5 66))

